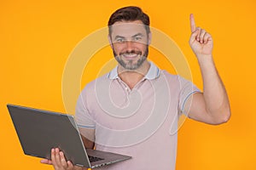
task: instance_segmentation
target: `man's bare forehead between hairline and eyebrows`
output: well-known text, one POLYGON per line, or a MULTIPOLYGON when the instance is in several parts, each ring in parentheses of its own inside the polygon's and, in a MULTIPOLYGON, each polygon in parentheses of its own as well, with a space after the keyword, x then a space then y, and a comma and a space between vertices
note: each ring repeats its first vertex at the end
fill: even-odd
POLYGON ((145 29, 145 25, 141 20, 135 21, 118 21, 115 22, 112 26, 112 36, 123 36, 123 37, 131 37, 136 35, 137 33, 141 33, 146 35, 147 31, 145 29))

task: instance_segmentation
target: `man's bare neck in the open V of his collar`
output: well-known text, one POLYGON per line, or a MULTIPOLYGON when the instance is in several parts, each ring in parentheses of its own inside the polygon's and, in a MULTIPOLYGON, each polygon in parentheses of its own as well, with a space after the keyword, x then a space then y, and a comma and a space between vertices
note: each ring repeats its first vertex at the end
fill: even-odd
POLYGON ((129 88, 134 88, 134 86, 137 84, 137 82, 140 82, 143 77, 148 73, 148 70, 150 68, 150 64, 148 60, 145 60, 143 62, 143 65, 141 65, 137 70, 129 71, 125 70, 122 66, 118 66, 118 74, 120 79, 125 82, 129 88))

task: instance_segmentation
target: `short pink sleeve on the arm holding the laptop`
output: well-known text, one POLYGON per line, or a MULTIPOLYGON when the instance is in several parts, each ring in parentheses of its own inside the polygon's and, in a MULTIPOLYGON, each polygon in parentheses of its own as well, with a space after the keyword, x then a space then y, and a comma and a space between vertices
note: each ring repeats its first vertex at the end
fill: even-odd
POLYGON ((86 103, 86 92, 83 91, 79 95, 79 99, 77 101, 75 118, 78 124, 78 127, 85 127, 85 128, 95 128, 95 121, 88 111, 87 103, 86 103))

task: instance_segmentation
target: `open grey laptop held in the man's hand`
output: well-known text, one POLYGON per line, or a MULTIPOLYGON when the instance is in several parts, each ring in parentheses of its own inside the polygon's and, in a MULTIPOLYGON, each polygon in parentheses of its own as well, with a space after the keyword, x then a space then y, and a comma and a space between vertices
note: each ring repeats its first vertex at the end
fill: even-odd
POLYGON ((100 150, 85 150, 79 128, 72 115, 20 105, 7 105, 7 107, 22 150, 28 156, 50 160, 50 150, 59 148, 73 165, 87 168, 102 167, 131 159, 131 156, 100 150))

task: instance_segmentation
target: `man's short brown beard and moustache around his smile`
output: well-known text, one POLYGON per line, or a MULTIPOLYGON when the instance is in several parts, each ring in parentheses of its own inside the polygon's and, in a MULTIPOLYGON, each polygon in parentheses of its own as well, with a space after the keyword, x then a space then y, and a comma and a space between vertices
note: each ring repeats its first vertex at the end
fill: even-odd
POLYGON ((125 51, 123 53, 116 54, 113 49, 113 55, 114 58, 118 61, 119 65, 123 66, 126 70, 133 71, 143 65, 143 62, 148 58, 148 46, 145 49, 144 54, 142 51, 138 50, 125 51), (128 62, 125 62, 125 60, 121 57, 123 54, 137 54, 139 56, 139 59, 137 59, 136 63, 133 63, 134 61, 132 59, 128 60, 128 62))

